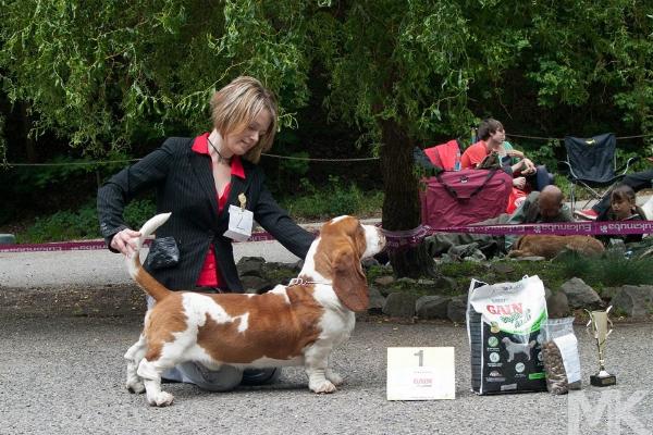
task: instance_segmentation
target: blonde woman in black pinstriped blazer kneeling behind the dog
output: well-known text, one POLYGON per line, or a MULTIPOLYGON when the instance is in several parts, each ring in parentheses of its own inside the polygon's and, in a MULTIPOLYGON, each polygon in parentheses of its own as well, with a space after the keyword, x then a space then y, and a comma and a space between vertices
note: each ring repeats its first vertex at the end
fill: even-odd
MULTIPOLYGON (((295 224, 272 199, 257 166, 276 132, 276 101, 260 82, 238 77, 211 98, 213 129, 195 138, 168 138, 161 148, 111 177, 98 190, 100 229, 109 249, 134 251, 140 235, 123 219, 126 203, 146 189, 157 191, 157 212, 172 212, 157 231, 145 268, 175 290, 242 293, 233 257, 229 206, 241 206, 286 249, 304 259, 313 236, 295 224), (239 199, 238 199, 239 197, 239 199), (176 246, 176 248, 175 248, 176 246), (170 256, 178 250, 178 256, 170 256)), ((149 302, 148 302, 149 304, 149 302)), ((267 383, 279 370, 243 373, 232 366, 209 371, 184 363, 164 374, 211 390, 267 383)))

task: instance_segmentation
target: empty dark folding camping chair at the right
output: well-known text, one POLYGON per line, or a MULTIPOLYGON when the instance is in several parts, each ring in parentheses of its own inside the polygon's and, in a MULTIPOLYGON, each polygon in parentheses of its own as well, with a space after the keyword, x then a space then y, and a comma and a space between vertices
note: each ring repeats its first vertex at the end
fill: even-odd
POLYGON ((628 159, 625 165, 617 169, 617 140, 613 133, 591 138, 565 137, 565 149, 567 150, 567 160, 560 163, 568 167, 567 177, 571 183, 569 189, 569 201, 571 211, 576 210, 576 189, 584 189, 591 197, 583 207, 588 207, 592 200, 601 200, 609 189, 617 184, 630 167, 630 164, 637 160, 632 157, 628 159))

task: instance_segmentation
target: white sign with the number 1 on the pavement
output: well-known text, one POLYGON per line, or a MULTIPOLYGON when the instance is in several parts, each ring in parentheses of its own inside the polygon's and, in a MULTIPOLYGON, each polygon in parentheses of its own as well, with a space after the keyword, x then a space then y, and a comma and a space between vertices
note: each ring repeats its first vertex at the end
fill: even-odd
POLYGON ((387 400, 455 398, 453 347, 387 348, 387 400))

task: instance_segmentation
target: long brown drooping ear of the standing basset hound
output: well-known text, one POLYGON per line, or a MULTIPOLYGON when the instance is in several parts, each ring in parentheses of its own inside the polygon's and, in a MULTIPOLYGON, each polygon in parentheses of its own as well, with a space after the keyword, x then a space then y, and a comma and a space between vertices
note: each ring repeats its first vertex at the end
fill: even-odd
POLYGON ((368 308, 370 297, 360 259, 350 246, 342 247, 333 254, 333 289, 341 302, 352 311, 368 308))

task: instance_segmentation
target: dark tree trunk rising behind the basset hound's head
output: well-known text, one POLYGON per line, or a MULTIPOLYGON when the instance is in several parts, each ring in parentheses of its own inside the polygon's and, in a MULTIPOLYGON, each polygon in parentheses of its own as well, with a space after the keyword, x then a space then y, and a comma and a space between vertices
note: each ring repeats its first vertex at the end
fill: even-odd
MULTIPOLYGON (((385 190, 383 228, 414 229, 421 219, 418 179, 412 171, 412 142, 395 121, 383 121, 381 128, 381 171, 385 190)), ((391 249, 389 257, 397 277, 439 276, 423 240, 417 246, 391 249)))

